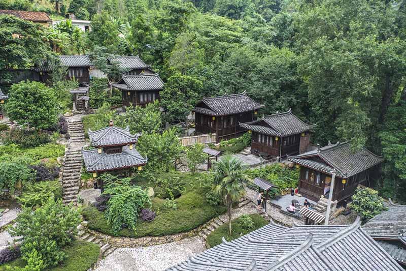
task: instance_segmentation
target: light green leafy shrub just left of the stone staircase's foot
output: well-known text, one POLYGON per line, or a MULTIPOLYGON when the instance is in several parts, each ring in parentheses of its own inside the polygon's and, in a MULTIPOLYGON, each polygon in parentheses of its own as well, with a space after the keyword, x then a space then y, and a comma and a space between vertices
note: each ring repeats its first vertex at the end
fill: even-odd
POLYGON ((50 197, 62 198, 62 187, 57 180, 28 185, 17 199, 25 207, 34 207, 42 206, 50 197))

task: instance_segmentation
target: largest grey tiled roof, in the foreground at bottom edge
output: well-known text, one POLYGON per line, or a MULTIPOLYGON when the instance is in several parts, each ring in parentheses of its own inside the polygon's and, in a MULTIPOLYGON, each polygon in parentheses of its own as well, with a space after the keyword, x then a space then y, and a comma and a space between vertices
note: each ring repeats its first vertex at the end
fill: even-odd
POLYGON ((167 269, 235 270, 403 270, 361 228, 353 225, 269 224, 167 269))

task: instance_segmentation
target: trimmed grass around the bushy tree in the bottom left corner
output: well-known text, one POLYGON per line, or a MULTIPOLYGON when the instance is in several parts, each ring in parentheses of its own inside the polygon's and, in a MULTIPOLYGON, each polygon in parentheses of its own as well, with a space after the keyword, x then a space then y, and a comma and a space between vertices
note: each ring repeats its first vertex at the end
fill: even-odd
MULTIPOLYGON (((100 248, 92 243, 75 240, 63 251, 66 254, 66 260, 58 266, 48 268, 48 271, 86 271, 97 261, 100 248)), ((24 260, 18 258, 7 264, 0 265, 0 271, 6 271, 7 266, 24 267, 25 264, 24 260)))

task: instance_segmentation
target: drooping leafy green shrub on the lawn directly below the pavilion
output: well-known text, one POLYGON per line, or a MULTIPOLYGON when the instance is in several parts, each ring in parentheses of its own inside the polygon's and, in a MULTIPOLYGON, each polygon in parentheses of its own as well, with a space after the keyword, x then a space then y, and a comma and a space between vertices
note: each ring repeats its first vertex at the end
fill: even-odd
POLYGON ((141 187, 132 186, 130 178, 106 184, 104 193, 111 195, 105 217, 113 231, 121 230, 124 225, 135 231, 140 210, 150 204, 148 194, 141 187))

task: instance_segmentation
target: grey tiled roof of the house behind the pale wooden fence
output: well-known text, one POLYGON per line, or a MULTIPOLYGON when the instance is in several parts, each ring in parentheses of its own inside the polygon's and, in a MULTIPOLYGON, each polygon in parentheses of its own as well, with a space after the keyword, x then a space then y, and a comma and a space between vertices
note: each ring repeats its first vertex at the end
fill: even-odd
POLYGON ((264 107, 263 104, 255 102, 243 92, 241 94, 204 98, 197 103, 192 111, 216 116, 254 111, 262 107, 264 107), (210 109, 201 107, 199 104, 205 104, 210 109))

